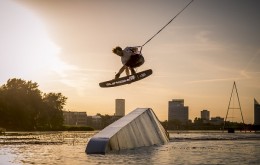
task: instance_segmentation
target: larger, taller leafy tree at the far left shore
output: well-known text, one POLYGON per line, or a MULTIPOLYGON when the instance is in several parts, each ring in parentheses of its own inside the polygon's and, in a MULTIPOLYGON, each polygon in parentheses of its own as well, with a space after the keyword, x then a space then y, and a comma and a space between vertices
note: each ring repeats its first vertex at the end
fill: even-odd
POLYGON ((18 130, 34 129, 35 116, 41 107, 38 84, 14 78, 9 79, 0 89, 1 125, 18 130))

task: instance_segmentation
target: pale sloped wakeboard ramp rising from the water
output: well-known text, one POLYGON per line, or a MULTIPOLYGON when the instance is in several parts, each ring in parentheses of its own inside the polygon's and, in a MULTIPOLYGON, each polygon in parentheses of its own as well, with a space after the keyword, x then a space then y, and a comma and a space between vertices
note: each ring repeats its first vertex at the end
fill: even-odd
POLYGON ((169 141, 166 130, 150 108, 137 108, 94 135, 87 154, 105 154, 111 150, 132 149, 169 141))

